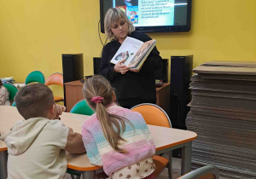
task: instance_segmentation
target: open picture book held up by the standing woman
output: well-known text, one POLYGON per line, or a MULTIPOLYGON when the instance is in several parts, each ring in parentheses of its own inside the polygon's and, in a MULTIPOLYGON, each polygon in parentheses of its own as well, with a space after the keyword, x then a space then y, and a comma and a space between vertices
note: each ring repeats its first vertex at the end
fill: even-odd
POLYGON ((125 66, 139 70, 154 48, 155 43, 155 40, 143 43, 136 38, 127 37, 110 62, 117 64, 119 61, 125 60, 125 66))

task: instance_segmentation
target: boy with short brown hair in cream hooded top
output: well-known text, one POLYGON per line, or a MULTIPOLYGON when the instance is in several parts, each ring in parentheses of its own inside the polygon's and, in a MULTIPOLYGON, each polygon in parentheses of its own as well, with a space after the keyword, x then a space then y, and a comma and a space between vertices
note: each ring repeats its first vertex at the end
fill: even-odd
POLYGON ((63 178, 65 150, 84 153, 82 136, 58 119, 61 106, 44 84, 26 85, 15 95, 15 103, 25 120, 0 138, 8 147, 8 178, 63 178))

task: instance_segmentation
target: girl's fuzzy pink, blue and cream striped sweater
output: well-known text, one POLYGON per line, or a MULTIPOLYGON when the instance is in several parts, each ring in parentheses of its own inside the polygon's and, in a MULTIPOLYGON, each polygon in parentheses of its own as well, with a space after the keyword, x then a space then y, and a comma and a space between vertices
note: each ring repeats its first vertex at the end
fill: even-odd
POLYGON ((140 113, 115 104, 108 107, 108 113, 123 116, 134 125, 135 130, 130 124, 125 123, 125 131, 121 135, 126 140, 121 148, 124 148, 127 153, 118 153, 109 145, 102 132, 101 124, 96 118, 96 113, 84 122, 82 136, 90 163, 103 166, 105 173, 110 176, 114 171, 127 165, 153 157, 155 146, 148 126, 140 113))

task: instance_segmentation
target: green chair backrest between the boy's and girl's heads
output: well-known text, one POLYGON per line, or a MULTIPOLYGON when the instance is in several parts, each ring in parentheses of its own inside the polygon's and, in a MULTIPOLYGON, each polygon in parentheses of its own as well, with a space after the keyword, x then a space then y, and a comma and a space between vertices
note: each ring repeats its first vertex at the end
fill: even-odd
POLYGON ((77 102, 72 109, 70 110, 70 113, 78 113, 78 114, 84 114, 84 115, 92 115, 95 113, 94 110, 92 110, 87 102, 85 100, 81 100, 77 102))

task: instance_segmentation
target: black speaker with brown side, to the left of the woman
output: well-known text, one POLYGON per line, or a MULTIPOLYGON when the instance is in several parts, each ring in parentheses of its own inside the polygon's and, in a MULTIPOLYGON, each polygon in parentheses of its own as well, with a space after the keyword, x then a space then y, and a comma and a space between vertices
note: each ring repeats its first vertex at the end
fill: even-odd
MULTIPOLYGON (((62 55, 62 74, 64 84, 79 80, 84 77, 83 54, 63 54, 62 55)), ((64 106, 66 106, 66 90, 64 85, 64 106)))

